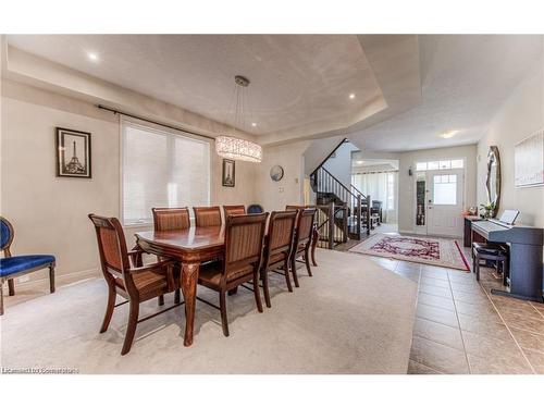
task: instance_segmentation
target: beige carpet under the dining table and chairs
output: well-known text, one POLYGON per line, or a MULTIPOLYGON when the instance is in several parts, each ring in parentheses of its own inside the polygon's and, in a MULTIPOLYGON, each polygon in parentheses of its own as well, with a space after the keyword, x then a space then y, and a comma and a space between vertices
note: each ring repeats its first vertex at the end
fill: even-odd
MULTIPOLYGON (((314 276, 288 293, 272 274, 272 308, 258 313, 244 288, 227 299, 231 336, 219 311, 197 302, 194 346, 183 347, 183 307, 138 325, 121 357, 127 308, 98 329, 101 279, 9 306, 1 318, 3 368, 69 368, 81 373, 406 373, 416 284, 364 257, 319 250, 314 276)), ((299 270, 304 274, 304 269, 299 270)), ((199 295, 217 302, 215 294, 199 295)), ((166 298, 166 307, 173 296, 166 298)), ((143 305, 144 316, 157 309, 143 305)))

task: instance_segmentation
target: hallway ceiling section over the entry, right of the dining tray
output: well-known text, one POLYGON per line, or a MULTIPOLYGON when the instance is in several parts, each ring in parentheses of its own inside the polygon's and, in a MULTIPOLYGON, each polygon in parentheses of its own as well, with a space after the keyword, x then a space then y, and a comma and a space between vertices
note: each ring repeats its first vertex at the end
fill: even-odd
POLYGON ((419 36, 422 101, 348 134, 364 150, 406 151, 478 141, 516 86, 542 64, 543 36, 419 36), (457 129, 449 139, 438 137, 457 129))

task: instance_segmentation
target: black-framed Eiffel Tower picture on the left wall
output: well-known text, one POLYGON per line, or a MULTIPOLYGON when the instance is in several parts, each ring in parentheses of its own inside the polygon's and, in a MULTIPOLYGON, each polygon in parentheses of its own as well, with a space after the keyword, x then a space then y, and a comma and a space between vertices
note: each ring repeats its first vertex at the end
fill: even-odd
POLYGON ((90 133, 57 127, 57 176, 91 178, 90 133))

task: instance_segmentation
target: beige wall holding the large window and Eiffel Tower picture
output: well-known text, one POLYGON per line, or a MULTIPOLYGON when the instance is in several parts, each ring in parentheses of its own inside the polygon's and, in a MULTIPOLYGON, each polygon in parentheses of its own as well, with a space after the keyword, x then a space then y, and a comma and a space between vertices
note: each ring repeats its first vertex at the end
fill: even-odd
MULTIPOLYGON (((96 236, 87 214, 120 217, 119 116, 13 82, 2 83, 1 102, 1 206, 15 227, 12 252, 53 254, 59 274, 97 271, 96 236), (55 177, 57 126, 92 134, 91 180, 55 177)), ((221 186, 221 164, 212 152, 212 203, 251 203, 257 164, 236 163, 235 188, 221 186)), ((125 232, 133 239, 135 230, 125 232)))

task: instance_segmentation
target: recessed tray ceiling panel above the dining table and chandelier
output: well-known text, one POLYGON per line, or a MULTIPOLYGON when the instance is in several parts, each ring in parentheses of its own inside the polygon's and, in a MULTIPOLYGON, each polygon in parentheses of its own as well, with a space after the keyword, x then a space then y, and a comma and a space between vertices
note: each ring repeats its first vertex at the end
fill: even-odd
POLYGON ((385 107, 355 35, 10 35, 8 42, 231 125, 234 76, 245 75, 252 118, 238 127, 255 135, 326 132, 385 107))

